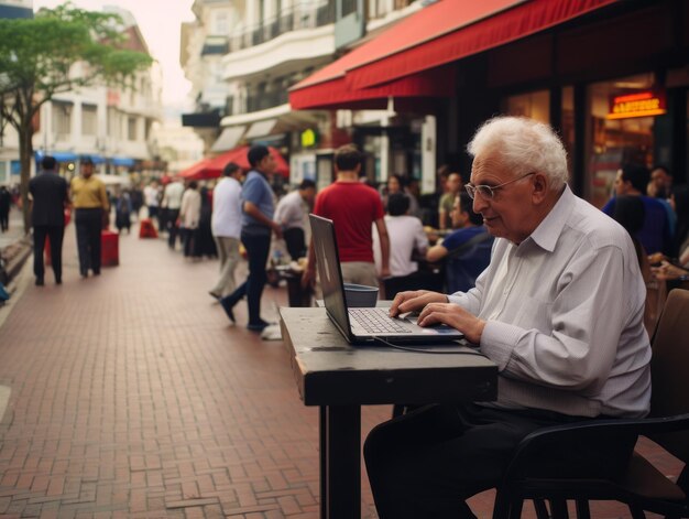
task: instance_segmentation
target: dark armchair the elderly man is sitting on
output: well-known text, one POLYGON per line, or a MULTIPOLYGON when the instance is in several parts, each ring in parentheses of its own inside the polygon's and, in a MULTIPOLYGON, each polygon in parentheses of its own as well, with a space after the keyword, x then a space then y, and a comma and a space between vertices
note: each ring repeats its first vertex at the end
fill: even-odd
POLYGON ((672 482, 637 452, 622 475, 610 477, 588 477, 588 469, 599 474, 605 459, 595 461, 597 467, 581 466, 577 459, 579 446, 635 442, 637 435, 645 435, 685 464, 689 461, 689 291, 674 290, 668 295, 652 345, 649 418, 592 420, 529 434, 515 450, 497 487, 494 519, 521 517, 524 499, 534 499, 539 518, 567 518, 567 500, 576 501, 580 518, 590 517, 590 500, 625 502, 634 519, 645 517, 644 510, 689 517, 687 465, 672 482))

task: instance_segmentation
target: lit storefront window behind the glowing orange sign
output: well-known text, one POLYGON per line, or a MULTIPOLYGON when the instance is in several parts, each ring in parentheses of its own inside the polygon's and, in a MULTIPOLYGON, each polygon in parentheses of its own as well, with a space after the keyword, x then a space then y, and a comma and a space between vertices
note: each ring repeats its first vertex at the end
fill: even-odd
POLYGON ((610 198, 621 164, 637 162, 650 166, 654 162, 655 116, 639 117, 638 111, 619 113, 613 109, 613 101, 621 96, 650 93, 654 79, 653 74, 639 74, 588 87, 587 198, 597 207, 610 198))

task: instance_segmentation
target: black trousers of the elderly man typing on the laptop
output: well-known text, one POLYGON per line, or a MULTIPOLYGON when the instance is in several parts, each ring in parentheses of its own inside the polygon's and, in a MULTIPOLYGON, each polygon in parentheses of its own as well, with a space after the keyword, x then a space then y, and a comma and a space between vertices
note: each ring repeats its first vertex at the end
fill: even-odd
MULTIPOLYGON (((586 419, 448 404, 424 407, 384 422, 364 444, 379 517, 474 518, 464 500, 500 483, 514 448, 527 434, 579 420, 586 419)), ((606 469, 615 473, 624 467, 633 445, 595 445, 578 455, 600 459, 604 454, 605 459, 614 459, 606 469), (611 454, 615 450, 620 453, 611 454)))

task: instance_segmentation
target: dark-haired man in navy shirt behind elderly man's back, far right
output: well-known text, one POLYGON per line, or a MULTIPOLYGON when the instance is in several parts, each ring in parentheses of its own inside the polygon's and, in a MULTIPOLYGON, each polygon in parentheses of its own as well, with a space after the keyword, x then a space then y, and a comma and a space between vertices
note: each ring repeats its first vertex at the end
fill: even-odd
MULTIPOLYGON (((647 255, 654 252, 663 252, 666 256, 671 255, 672 236, 670 235, 670 225, 667 212, 663 204, 644 195, 646 185, 650 180, 650 173, 646 166, 641 164, 624 164, 617 171, 614 188, 616 196, 638 196, 644 203, 646 216, 642 230, 636 234, 636 239, 641 241, 647 255)), ((615 198, 612 198, 603 206, 603 213, 612 216, 615 212, 615 198)))

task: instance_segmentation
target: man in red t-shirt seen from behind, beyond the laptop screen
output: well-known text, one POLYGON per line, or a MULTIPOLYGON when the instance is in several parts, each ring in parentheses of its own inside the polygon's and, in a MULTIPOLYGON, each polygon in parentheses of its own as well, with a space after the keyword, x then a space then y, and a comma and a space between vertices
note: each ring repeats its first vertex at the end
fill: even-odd
MULTIPOLYGON (((381 278, 390 275, 390 238, 380 195, 374 188, 359 182, 362 163, 363 155, 353 144, 346 144, 335 152, 337 180, 318 193, 314 214, 330 218, 335 224, 344 282, 378 286, 372 225, 375 224, 381 239, 381 278)), ((313 247, 309 247, 308 259, 304 283, 315 279, 313 247)))

